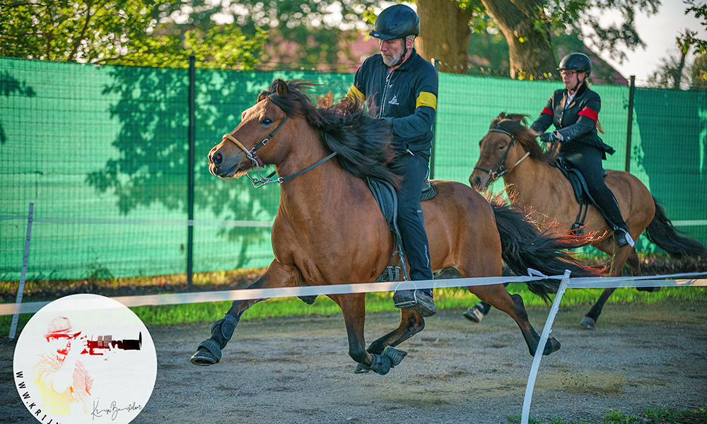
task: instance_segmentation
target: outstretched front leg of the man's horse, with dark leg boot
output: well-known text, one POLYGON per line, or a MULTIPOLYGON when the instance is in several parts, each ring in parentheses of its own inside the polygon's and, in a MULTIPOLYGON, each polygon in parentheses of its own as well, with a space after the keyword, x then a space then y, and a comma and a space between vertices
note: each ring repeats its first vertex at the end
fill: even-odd
MULTIPOLYGON (((296 285, 301 276, 296 270, 287 270, 276 261, 272 261, 262 277, 247 288, 274 288, 296 285)), ((240 316, 252 305, 262 299, 234 300, 228 312, 211 326, 211 337, 199 343, 197 352, 192 355, 194 365, 214 365, 221 360, 221 350, 233 336, 235 326, 238 325, 240 316)))

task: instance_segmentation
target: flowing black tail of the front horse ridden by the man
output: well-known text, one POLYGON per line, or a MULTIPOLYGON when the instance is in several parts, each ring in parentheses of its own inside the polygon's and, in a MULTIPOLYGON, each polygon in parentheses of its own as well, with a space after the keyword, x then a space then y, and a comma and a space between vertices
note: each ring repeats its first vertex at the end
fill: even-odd
MULTIPOLYGON (((607 265, 583 265, 566 249, 587 245, 589 236, 574 235, 570 231, 539 232, 525 213, 501 199, 491 200, 496 228, 501 235, 503 261, 515 274, 527 275, 535 269, 547 276, 562 275, 566 269, 573 277, 595 277, 607 274, 607 265)), ((559 281, 541 280, 526 283, 530 291, 549 302, 548 293, 557 293, 559 281)))

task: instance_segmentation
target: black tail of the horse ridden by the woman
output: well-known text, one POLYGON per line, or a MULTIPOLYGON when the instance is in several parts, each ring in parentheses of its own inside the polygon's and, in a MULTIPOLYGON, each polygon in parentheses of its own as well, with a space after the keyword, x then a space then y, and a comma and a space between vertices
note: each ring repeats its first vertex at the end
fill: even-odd
POLYGON ((653 197, 655 204, 655 215, 645 229, 645 237, 654 245, 668 252, 672 257, 684 256, 707 256, 707 247, 704 247, 697 240, 682 237, 679 234, 686 234, 672 226, 672 222, 665 216, 665 211, 653 197))

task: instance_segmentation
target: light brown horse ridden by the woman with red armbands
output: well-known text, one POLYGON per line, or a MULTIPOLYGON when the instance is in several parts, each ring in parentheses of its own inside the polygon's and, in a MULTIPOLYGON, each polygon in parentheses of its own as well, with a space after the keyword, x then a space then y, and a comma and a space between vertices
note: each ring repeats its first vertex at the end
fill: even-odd
MULTIPOLYGON (((498 176, 503 176, 511 201, 532 211, 541 228, 559 224, 571 228, 579 211, 573 189, 554 163, 554 149, 544 152, 536 134, 527 128, 527 116, 501 113, 491 121, 489 133, 479 141, 481 155, 469 177, 472 187, 485 190, 498 176)), ((629 172, 607 170, 607 186, 616 196, 621 215, 629 225, 633 240, 645 231, 648 240, 674 256, 705 255, 707 249, 696 240, 678 235, 665 212, 643 183, 629 172)), ((636 249, 619 249, 600 211, 590 206, 586 215, 585 232, 599 234, 591 245, 612 257, 612 276, 624 271, 624 264, 638 276, 636 249)), ((607 288, 597 303, 582 319, 581 324, 594 328, 604 302, 614 292, 607 288)))

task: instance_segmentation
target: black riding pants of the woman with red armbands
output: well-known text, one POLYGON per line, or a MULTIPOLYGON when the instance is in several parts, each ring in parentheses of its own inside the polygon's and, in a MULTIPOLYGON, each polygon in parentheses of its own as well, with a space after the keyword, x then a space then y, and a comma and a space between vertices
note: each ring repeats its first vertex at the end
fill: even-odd
POLYGON ((604 182, 604 167, 602 167, 602 151, 599 148, 576 143, 571 151, 560 150, 560 156, 575 167, 587 182, 589 194, 602 210, 604 218, 612 228, 629 230, 619 210, 614 193, 604 182))

